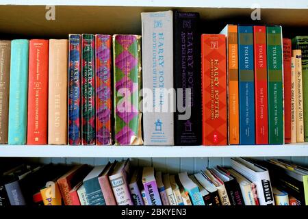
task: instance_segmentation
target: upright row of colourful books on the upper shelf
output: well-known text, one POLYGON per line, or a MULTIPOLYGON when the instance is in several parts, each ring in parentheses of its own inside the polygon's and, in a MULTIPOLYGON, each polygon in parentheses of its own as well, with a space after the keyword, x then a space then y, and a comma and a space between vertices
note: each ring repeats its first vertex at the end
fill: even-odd
POLYGON ((0 41, 0 144, 308 139, 308 37, 294 38, 292 51, 280 26, 200 34, 198 13, 141 17, 142 36, 0 41))

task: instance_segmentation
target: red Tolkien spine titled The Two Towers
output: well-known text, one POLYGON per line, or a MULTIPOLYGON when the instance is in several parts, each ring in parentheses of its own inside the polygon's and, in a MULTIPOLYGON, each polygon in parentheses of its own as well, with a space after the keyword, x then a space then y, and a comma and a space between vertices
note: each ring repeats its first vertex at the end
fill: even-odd
POLYGON ((255 56, 255 143, 268 144, 268 71, 266 62, 266 27, 254 26, 255 56))

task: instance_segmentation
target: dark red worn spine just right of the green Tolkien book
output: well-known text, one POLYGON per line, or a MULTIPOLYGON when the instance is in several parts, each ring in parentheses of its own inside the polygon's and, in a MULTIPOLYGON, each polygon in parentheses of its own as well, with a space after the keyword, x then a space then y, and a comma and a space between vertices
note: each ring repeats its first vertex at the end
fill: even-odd
POLYGON ((283 102, 285 111, 285 143, 291 143, 291 57, 292 57, 292 43, 290 39, 283 38, 283 102))

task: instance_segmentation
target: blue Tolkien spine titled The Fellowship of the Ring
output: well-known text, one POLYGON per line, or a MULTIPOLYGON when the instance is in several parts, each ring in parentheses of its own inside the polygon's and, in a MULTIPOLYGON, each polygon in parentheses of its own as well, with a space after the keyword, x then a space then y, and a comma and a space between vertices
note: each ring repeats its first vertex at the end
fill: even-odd
POLYGON ((253 27, 238 26, 240 144, 255 144, 253 27))

